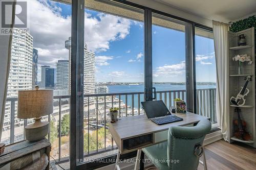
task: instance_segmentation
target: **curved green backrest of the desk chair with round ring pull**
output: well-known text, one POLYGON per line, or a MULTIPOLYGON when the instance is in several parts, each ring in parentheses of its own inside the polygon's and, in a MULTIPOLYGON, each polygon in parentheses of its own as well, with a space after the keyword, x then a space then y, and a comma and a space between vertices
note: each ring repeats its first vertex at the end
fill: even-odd
POLYGON ((201 120, 194 127, 170 127, 167 142, 169 169, 196 170, 199 164, 199 157, 195 155, 196 145, 203 145, 204 137, 210 129, 208 119, 201 120))

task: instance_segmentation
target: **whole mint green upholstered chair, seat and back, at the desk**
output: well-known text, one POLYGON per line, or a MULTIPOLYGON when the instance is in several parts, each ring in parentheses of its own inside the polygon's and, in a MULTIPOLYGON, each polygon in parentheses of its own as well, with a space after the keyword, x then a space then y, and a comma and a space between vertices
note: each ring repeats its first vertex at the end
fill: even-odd
POLYGON ((199 164, 207 169, 203 140, 211 129, 209 120, 201 120, 194 127, 170 127, 168 141, 142 149, 160 170, 196 170, 199 164), (203 162, 199 158, 203 156, 203 162), (178 162, 179 161, 179 162, 178 162))

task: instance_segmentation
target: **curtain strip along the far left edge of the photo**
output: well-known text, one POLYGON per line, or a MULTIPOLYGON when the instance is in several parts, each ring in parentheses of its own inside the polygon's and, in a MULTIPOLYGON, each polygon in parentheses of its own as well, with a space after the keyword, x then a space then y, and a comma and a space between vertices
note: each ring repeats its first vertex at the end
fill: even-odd
MULTIPOLYGON (((15 4, 16 1, 13 1, 13 8, 8 11, 12 14, 12 21, 14 21, 15 18, 15 4)), ((2 137, 2 129, 5 117, 5 101, 11 61, 11 45, 12 35, 0 35, 0 139, 2 137)))

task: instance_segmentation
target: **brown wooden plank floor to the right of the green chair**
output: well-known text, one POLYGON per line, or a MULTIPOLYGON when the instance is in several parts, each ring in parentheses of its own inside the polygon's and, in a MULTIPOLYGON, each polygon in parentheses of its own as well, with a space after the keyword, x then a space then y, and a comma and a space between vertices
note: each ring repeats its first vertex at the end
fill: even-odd
MULTIPOLYGON (((205 146, 205 155, 208 170, 256 169, 256 149, 240 142, 229 144, 219 140, 208 144, 205 146)), ((150 170, 154 169, 156 168, 150 168, 150 170)), ((203 169, 203 165, 200 164, 198 170, 203 169)))

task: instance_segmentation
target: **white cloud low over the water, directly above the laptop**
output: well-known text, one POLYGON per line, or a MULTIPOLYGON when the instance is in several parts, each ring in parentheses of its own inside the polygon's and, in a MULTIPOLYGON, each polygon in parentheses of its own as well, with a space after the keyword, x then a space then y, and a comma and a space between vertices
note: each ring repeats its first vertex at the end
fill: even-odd
POLYGON ((164 65, 157 67, 155 71, 153 71, 154 77, 159 77, 160 75, 165 77, 177 76, 185 73, 185 61, 181 61, 178 64, 173 65, 164 65))

